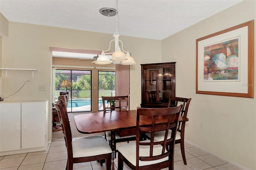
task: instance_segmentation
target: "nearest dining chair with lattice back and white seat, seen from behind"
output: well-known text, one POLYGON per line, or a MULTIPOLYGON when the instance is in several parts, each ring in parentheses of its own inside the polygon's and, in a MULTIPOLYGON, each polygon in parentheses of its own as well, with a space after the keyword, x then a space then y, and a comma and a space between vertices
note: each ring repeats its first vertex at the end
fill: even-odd
POLYGON ((136 115, 136 142, 118 146, 118 170, 123 170, 124 163, 132 170, 160 170, 174 166, 174 144, 178 127, 178 118, 182 105, 170 108, 140 108, 136 115), (151 122, 144 123, 143 117, 151 117, 151 122), (168 132, 171 130, 171 137, 168 132), (154 141, 154 134, 164 131, 163 140, 154 141), (140 135, 151 132, 149 140, 140 140, 140 135))

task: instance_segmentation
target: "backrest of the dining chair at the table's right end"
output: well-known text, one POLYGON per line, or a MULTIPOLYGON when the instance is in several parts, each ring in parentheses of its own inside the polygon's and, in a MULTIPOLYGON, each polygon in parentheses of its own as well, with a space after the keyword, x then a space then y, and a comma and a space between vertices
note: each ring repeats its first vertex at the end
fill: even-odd
MULTIPOLYGON (((182 98, 182 97, 171 96, 168 101, 168 107, 178 106, 178 104, 182 104, 183 107, 180 112, 180 116, 186 118, 188 115, 188 107, 189 107, 190 101, 191 101, 191 98, 182 98)), ((181 124, 183 124, 183 126, 185 126, 185 122, 184 123, 180 122, 178 124, 178 132, 181 132, 181 129, 182 129, 181 124)))

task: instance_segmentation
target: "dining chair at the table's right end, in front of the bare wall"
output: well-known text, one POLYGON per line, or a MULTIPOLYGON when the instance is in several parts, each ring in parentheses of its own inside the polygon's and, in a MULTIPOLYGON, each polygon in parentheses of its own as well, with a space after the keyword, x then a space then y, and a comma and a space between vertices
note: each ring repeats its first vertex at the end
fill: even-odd
MULTIPOLYGON (((190 104, 191 98, 182 98, 182 97, 170 97, 168 101, 168 107, 175 107, 178 104, 182 104, 182 110, 180 112, 180 116, 187 118, 188 115, 188 107, 190 104)), ((178 129, 177 134, 175 138, 175 144, 180 143, 180 150, 182 154, 182 159, 184 164, 187 164, 186 156, 185 156, 185 147, 184 147, 184 133, 185 133, 185 123, 186 122, 179 122, 178 123, 178 129)), ((170 136, 171 133, 169 132, 168 136, 170 136)), ((147 133, 146 136, 150 137, 150 134, 147 133)), ((164 132, 157 132, 155 133, 154 140, 159 141, 162 140, 164 137, 164 132)))

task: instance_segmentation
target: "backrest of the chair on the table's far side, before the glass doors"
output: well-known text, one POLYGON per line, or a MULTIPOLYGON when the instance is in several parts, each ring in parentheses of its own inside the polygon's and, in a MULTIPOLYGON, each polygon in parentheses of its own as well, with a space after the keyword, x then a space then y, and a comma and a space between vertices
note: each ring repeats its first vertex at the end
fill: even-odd
POLYGON ((128 96, 102 96, 103 111, 121 111, 129 110, 129 99, 128 96), (114 102, 114 106, 113 103, 114 102))

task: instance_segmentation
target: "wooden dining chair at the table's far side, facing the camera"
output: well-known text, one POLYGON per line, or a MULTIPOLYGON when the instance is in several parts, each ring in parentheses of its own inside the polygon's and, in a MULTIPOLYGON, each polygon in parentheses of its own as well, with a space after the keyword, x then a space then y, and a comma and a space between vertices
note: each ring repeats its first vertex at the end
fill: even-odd
MULTIPOLYGON (((122 110, 129 110, 129 100, 128 100, 128 96, 102 96, 102 105, 103 105, 103 111, 104 113, 106 112, 112 112, 112 111, 122 111, 122 110), (106 104, 106 101, 109 104, 106 104), (115 103, 115 105, 113 105, 113 102, 115 103)), ((112 131, 112 133, 114 133, 114 131, 112 131)), ((118 150, 116 150, 116 143, 117 142, 129 142, 129 141, 133 141, 136 140, 136 135, 130 135, 130 136, 124 136, 124 137, 120 137, 118 136, 118 134, 115 134, 115 139, 114 139, 114 147, 113 148, 115 150, 115 153, 118 152, 118 150)), ((111 138, 111 131, 107 131, 105 132, 105 138, 108 141, 108 143, 110 144, 110 138, 111 138)), ((116 155, 115 155, 116 157, 116 155)))

